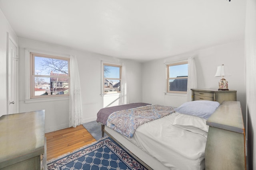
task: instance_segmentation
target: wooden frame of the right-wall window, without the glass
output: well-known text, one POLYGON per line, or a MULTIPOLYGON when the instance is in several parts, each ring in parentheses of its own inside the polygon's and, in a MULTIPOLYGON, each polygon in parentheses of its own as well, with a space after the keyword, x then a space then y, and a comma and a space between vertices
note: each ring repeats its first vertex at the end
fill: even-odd
POLYGON ((170 79, 188 79, 188 76, 185 76, 185 77, 170 77, 169 76, 169 68, 170 66, 176 66, 176 65, 183 65, 183 64, 188 64, 188 61, 180 61, 180 62, 177 62, 177 63, 169 63, 169 64, 166 64, 166 70, 167 70, 167 82, 166 82, 166 90, 167 90, 167 93, 179 93, 179 94, 186 94, 187 93, 187 90, 186 91, 171 91, 170 90, 170 83, 169 83, 169 80, 170 79))

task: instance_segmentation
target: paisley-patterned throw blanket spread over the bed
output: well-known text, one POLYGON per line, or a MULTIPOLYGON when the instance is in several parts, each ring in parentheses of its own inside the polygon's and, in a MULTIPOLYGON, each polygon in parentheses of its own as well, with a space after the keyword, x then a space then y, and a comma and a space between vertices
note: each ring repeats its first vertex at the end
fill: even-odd
POLYGON ((108 117, 107 126, 131 138, 140 125, 159 119, 174 112, 176 107, 148 105, 134 109, 120 110, 108 117))

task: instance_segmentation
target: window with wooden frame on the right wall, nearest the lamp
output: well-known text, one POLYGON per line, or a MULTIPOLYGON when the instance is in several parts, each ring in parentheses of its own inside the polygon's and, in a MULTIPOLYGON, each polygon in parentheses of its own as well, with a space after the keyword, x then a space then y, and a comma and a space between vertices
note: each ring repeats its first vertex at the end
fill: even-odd
POLYGON ((186 93, 188 87, 188 62, 167 65, 167 92, 186 93))

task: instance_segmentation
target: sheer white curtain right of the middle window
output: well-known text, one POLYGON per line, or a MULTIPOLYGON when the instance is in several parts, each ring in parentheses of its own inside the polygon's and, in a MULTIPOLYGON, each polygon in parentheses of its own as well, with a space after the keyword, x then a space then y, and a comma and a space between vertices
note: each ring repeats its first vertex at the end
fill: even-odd
POLYGON ((121 73, 121 83, 120 83, 120 96, 119 96, 119 105, 128 104, 128 86, 127 86, 127 76, 126 76, 126 66, 122 64, 122 73, 121 73))

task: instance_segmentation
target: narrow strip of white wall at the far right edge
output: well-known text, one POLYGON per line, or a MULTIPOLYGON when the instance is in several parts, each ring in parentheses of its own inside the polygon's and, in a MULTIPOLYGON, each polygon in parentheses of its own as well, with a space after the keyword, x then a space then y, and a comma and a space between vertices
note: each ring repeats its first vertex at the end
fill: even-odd
POLYGON ((246 103, 248 169, 256 170, 256 1, 247 0, 246 11, 246 103))

